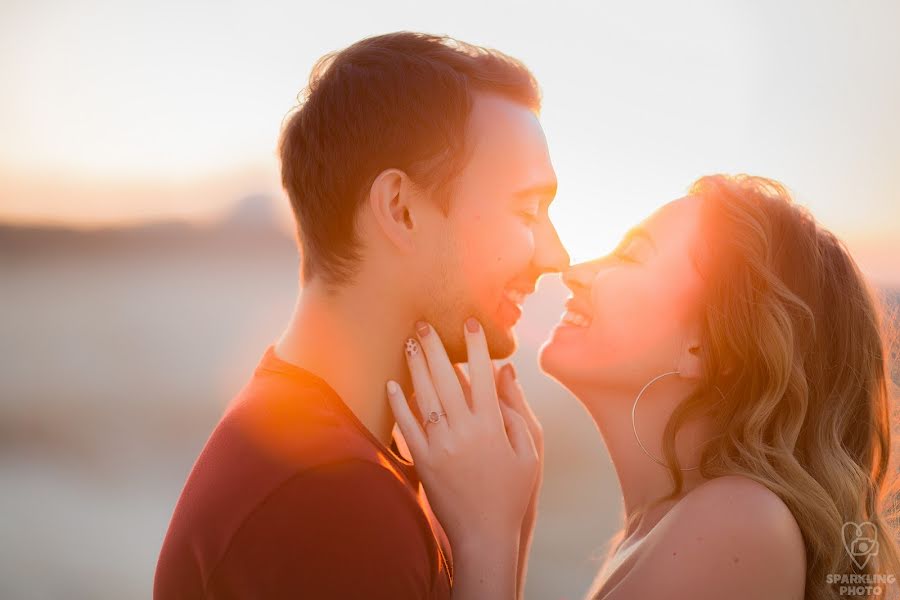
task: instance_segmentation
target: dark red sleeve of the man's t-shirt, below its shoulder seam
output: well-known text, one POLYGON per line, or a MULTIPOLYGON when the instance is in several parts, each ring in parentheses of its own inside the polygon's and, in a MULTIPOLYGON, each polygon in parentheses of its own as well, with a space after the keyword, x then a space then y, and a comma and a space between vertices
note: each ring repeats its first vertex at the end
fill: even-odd
POLYGON ((424 598, 441 576, 415 495, 389 469, 347 460, 273 490, 235 530, 205 588, 213 596, 424 598))

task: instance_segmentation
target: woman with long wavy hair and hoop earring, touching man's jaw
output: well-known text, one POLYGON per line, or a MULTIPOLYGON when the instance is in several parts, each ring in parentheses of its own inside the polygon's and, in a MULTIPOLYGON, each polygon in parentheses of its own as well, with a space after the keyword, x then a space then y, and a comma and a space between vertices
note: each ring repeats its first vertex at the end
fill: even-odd
MULTIPOLYGON (((564 282, 540 364, 597 423, 626 514, 591 597, 897 594, 875 300, 781 185, 704 177, 564 282)), ((409 363, 446 416, 423 425, 393 383, 389 400, 450 535, 454 594, 521 595, 540 428, 477 327, 470 380, 436 338, 409 363)))

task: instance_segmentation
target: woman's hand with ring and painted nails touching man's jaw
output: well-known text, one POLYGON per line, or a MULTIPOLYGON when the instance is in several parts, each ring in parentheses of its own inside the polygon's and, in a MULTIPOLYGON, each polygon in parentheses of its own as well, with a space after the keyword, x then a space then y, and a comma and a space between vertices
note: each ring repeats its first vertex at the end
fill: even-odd
POLYGON ((477 321, 469 319, 464 333, 468 382, 433 328, 420 324, 417 332, 419 342, 407 341, 406 356, 424 421, 396 382, 388 382, 388 399, 453 547, 454 598, 512 598, 523 517, 540 468, 529 424, 498 401, 477 321))

